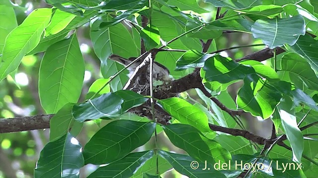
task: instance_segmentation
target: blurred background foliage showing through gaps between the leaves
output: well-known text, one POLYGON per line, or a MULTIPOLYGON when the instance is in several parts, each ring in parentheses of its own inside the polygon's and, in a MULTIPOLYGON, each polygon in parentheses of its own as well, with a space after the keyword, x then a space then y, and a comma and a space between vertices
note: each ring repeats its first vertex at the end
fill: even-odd
MULTIPOLYGON (((36 8, 51 7, 44 0, 11 0, 19 5, 14 8, 17 24, 21 24, 26 16, 36 8)), ((200 5, 207 5, 201 3, 200 5)), ((205 13, 207 19, 216 14, 216 8, 212 5, 206 7, 211 12, 205 13)), ((1 21, 1 19, 0 19, 1 21)), ((1 22, 0 22, 1 23, 1 22)), ((89 40, 89 24, 85 24, 77 30, 80 50, 85 60, 85 76, 82 88, 82 94, 79 101, 85 99, 89 86, 98 78, 100 74, 100 61, 95 55, 91 41, 89 40)), ((231 46, 260 44, 261 40, 254 40, 251 34, 247 33, 228 33, 215 41, 218 49, 231 46)), ((233 59, 239 59, 246 54, 262 49, 263 46, 240 48, 221 52, 223 56, 229 56, 233 59)), ((37 114, 46 114, 42 109, 38 95, 38 71, 43 52, 35 55, 27 55, 22 59, 22 63, 16 71, 15 80, 8 77, 0 82, 0 118, 13 118, 31 116, 37 114)), ((268 61, 268 60, 267 60, 268 61)), ((229 93, 237 92, 240 84, 231 86, 229 93)), ((196 92, 188 91, 191 98, 200 100, 196 92)), ((186 96, 186 94, 184 95, 186 96)), ((191 100, 189 100, 191 102, 191 100)), ((193 103, 193 102, 192 102, 193 103)), ((204 103, 203 101, 201 103, 204 103)), ((247 122, 248 130, 254 134, 268 136, 271 130, 270 120, 258 120, 250 115, 244 116, 244 122, 247 122)), ((106 125, 109 121, 102 120, 99 126, 94 122, 85 122, 84 127, 79 134, 79 141, 84 145, 89 138, 95 134, 99 128, 106 125)), ((175 152, 185 153, 179 148, 173 146, 164 139, 163 133, 159 134, 159 147, 163 150, 174 150, 175 152), (161 138, 161 139, 160 139, 161 138), (168 145, 168 146, 167 146, 168 145)), ((0 178, 31 178, 33 177, 36 161, 39 159, 40 151, 49 141, 49 129, 24 131, 18 133, 0 134, 0 178)), ((147 145, 153 147, 154 140, 150 140, 147 145)), ((141 148, 144 150, 145 148, 141 148)), ((96 169, 93 165, 86 165, 81 169, 80 175, 89 175, 96 169)), ((168 172, 169 178, 182 177, 177 172, 168 172)), ((85 177, 85 176, 83 176, 85 177)))

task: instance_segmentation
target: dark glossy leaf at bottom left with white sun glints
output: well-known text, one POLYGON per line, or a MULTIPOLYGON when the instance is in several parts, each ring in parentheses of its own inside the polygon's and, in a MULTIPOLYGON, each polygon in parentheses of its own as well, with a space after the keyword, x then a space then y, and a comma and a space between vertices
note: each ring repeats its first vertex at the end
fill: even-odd
POLYGON ((79 178, 84 166, 82 146, 67 133, 45 145, 34 170, 34 178, 79 178))

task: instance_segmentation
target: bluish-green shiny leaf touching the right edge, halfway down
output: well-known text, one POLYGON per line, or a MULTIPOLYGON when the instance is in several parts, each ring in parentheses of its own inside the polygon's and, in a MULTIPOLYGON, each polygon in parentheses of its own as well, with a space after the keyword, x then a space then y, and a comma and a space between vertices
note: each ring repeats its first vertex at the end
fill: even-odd
POLYGON ((294 103, 299 106, 300 102, 307 104, 312 109, 318 111, 317 103, 301 89, 295 89, 291 91, 291 95, 294 96, 294 103))

